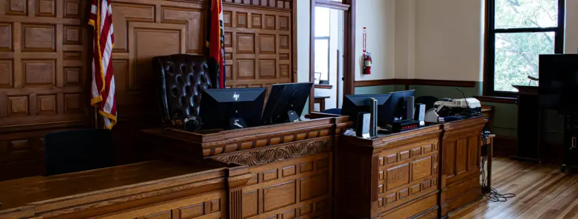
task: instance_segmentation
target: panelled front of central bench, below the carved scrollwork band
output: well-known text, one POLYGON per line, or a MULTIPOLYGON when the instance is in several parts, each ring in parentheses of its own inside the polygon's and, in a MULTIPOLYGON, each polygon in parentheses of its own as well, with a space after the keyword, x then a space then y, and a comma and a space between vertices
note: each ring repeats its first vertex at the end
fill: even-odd
POLYGON ((232 218, 315 218, 330 214, 331 153, 323 152, 251 166, 254 173, 242 188, 241 215, 232 218))

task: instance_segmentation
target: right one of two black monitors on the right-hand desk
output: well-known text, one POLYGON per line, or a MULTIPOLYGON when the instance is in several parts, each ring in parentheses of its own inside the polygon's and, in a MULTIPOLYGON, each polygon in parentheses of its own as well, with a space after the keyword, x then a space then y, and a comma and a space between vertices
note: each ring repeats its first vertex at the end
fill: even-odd
MULTIPOLYGON (((415 90, 391 92, 387 110, 383 116, 386 124, 391 124, 393 121, 413 119, 408 118, 407 114, 407 98, 415 95, 415 90)), ((381 125, 380 125, 381 126, 381 125)))

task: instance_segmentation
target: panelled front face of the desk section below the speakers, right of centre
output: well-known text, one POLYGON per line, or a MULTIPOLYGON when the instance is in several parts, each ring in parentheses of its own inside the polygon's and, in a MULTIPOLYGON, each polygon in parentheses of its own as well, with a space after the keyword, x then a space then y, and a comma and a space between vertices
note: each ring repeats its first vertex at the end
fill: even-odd
POLYGON ((374 155, 377 174, 371 191, 380 212, 437 190, 438 143, 438 138, 433 138, 374 155))

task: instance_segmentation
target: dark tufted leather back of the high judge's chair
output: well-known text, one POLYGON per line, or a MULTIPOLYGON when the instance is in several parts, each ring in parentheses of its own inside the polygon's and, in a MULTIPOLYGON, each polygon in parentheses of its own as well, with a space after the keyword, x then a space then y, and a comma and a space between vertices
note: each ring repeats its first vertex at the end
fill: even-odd
POLYGON ((163 123, 174 124, 188 115, 198 116, 202 91, 218 87, 218 65, 215 59, 209 60, 186 54, 153 58, 153 70, 160 78, 163 123))

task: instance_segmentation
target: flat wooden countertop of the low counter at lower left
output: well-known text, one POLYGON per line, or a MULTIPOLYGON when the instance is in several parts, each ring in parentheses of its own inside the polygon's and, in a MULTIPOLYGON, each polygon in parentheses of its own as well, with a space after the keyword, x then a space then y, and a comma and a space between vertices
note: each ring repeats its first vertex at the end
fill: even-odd
MULTIPOLYGON (((0 182, 0 211, 35 205, 36 202, 64 197, 129 190, 159 184, 159 181, 217 173, 224 176, 224 168, 202 164, 177 164, 162 160, 113 166, 92 171, 82 171, 49 177, 37 176, 0 182), (211 171, 212 170, 212 171, 211 171), (220 173, 222 172, 222 174, 220 173)), ((199 177, 200 180, 206 177, 199 177)))

